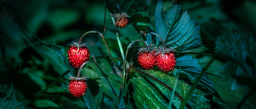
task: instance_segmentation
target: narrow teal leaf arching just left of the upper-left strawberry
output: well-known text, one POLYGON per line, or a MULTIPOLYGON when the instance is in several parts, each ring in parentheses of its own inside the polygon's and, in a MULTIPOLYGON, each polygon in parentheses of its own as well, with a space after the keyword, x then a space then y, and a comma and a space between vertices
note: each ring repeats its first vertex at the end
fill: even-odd
POLYGON ((72 75, 74 76, 74 68, 72 68, 72 66, 70 66, 67 56, 64 53, 63 48, 51 44, 51 43, 46 43, 46 42, 40 42, 42 45, 46 45, 47 47, 51 48, 52 50, 56 51, 58 55, 60 55, 61 59, 65 62, 65 64, 67 65, 67 68, 69 69, 69 71, 72 73, 72 75))

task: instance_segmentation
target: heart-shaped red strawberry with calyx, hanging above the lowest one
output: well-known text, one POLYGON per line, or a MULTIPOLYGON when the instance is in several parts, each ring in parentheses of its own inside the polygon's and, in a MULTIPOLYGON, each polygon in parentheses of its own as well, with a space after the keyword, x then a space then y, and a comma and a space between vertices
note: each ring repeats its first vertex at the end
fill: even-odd
POLYGON ((72 42, 70 45, 72 47, 68 49, 68 61, 73 68, 80 68, 84 62, 89 60, 90 51, 85 44, 77 45, 77 43, 72 42))

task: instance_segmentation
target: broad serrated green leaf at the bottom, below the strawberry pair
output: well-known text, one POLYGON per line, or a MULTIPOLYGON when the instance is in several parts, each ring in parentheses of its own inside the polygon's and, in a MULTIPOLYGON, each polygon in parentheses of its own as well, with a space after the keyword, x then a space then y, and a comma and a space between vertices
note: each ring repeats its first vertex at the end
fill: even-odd
MULTIPOLYGON (((157 78, 157 80, 159 80, 159 81, 163 82, 164 84, 168 85, 168 87, 172 87, 172 89, 173 89, 174 84, 175 84, 175 80, 176 80, 175 77, 170 76, 170 75, 165 75, 164 73, 161 73, 160 71, 147 70, 145 72, 148 73, 151 76, 154 76, 155 78, 157 78)), ((147 75, 143 75, 143 76, 147 77, 147 79, 152 84, 150 84, 150 82, 146 81, 145 79, 141 78, 140 76, 138 76, 138 78, 133 78, 134 80, 135 79, 137 80, 136 82, 134 82, 134 81, 132 82, 132 84, 136 84, 136 87, 134 87, 134 90, 135 90, 134 99, 137 100, 137 101, 135 100, 136 101, 136 106, 143 106, 145 104, 145 102, 148 102, 147 100, 157 101, 157 99, 154 96, 150 96, 150 91, 154 91, 154 93, 157 94, 157 95, 160 94, 162 99, 163 98, 168 98, 168 100, 170 100, 170 98, 172 96, 172 91, 170 91, 163 84, 159 84, 159 82, 150 78, 149 76, 147 76, 147 75), (138 86, 137 86, 137 84, 138 84, 138 86), (153 98, 155 98, 155 99, 153 99, 153 98)), ((186 94, 188 94, 188 91, 189 91, 190 88, 191 88, 191 85, 185 83, 182 80, 179 80, 177 82, 176 92, 180 96, 182 96, 182 98, 184 98, 186 96, 186 94)), ((211 105, 209 105, 207 103, 207 101, 209 101, 209 99, 206 99, 204 96, 205 96, 204 92, 196 89, 193 92, 192 96, 189 98, 188 104, 192 108, 210 108, 211 105)), ((157 97, 159 97, 159 96, 157 96, 157 97)), ((150 102, 152 102, 152 101, 150 101, 150 102)), ((168 102, 168 101, 165 101, 165 102, 168 102)), ((173 98, 172 103, 175 106, 175 108, 179 108, 182 101, 175 95, 174 98, 173 98)), ((144 108, 147 108, 146 106, 144 108)), ((140 108, 140 107, 138 107, 138 108, 140 108)), ((164 105, 163 108, 167 108, 167 106, 164 105)))

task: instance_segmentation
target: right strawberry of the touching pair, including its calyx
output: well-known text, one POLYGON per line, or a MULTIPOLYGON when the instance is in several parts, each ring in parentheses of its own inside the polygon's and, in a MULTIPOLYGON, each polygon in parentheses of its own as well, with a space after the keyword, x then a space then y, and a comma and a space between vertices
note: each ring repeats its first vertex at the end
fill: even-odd
POLYGON ((157 53, 155 54, 156 65, 164 73, 173 71, 173 69, 175 68, 176 57, 174 52, 176 52, 176 50, 173 50, 171 48, 165 48, 165 49, 163 47, 157 48, 157 53))

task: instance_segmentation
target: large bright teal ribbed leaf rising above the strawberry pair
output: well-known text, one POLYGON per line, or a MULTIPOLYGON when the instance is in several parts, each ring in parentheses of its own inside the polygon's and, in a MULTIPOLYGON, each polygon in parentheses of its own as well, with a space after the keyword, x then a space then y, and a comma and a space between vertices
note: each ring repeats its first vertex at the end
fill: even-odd
MULTIPOLYGON (((200 26, 195 26, 188 11, 183 11, 182 6, 175 5, 168 13, 163 12, 162 1, 157 3, 155 13, 156 33, 163 38, 166 47, 178 51, 195 48, 202 42, 200 38, 200 26)), ((156 45, 161 45, 161 40, 156 39, 156 45)))

